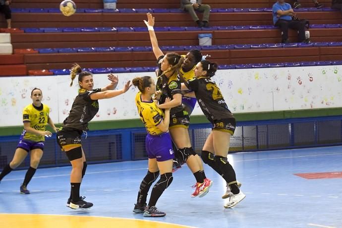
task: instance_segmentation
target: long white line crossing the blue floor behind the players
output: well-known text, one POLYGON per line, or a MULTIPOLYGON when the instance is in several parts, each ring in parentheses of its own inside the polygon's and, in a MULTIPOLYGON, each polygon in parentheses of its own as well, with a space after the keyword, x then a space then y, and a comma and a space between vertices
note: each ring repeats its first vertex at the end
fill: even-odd
MULTIPOLYGON (((330 156, 330 155, 342 155, 342 153, 289 156, 289 157, 279 157, 279 158, 245 159, 245 160, 234 160, 234 162, 250 162, 250 161, 264 161, 264 160, 292 159, 292 158, 294 159, 294 158, 307 158, 307 157, 330 156)), ((106 173, 106 172, 137 171, 137 170, 147 170, 147 169, 148 168, 128 169, 128 170, 97 171, 97 172, 87 172, 87 175, 89 175, 89 174, 98 174, 98 173, 106 173)), ((57 176, 70 176, 70 173, 68 173, 68 174, 59 174, 59 175, 34 176, 33 179, 35 179, 35 178, 49 178, 49 177, 57 177, 57 176)), ((22 180, 22 178, 4 179, 4 180, 1 180, 1 181, 11 181, 11 180, 22 180)))

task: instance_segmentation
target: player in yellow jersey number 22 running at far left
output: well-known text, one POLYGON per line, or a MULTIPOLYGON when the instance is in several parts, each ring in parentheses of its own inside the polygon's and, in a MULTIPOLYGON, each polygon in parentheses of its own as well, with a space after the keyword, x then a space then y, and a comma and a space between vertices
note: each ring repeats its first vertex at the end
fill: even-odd
POLYGON ((17 168, 31 151, 30 168, 20 186, 21 194, 30 194, 26 186, 36 172, 43 156, 45 137, 52 135, 50 131, 46 130, 46 125, 49 124, 57 132, 56 126, 49 116, 50 108, 42 104, 42 98, 42 90, 34 88, 31 92, 32 104, 26 106, 23 111, 24 130, 21 133, 13 159, 0 174, 1 180, 10 171, 17 168))

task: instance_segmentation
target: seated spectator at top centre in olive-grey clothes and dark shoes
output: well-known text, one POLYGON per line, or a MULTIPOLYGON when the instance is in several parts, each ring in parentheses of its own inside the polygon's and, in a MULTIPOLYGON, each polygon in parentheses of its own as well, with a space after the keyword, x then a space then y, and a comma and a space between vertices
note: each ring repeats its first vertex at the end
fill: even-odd
POLYGON ((202 4, 202 0, 180 0, 180 8, 190 13, 199 28, 209 27, 210 5, 202 4), (202 20, 198 18, 196 11, 203 13, 202 20))

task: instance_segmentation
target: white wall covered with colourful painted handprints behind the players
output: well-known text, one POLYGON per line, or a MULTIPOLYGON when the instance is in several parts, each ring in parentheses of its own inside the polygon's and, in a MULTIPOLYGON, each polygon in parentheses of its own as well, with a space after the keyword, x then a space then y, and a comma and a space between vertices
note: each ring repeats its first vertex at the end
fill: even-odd
MULTIPOLYGON (((120 73, 117 89, 135 76, 154 72, 120 73)), ((282 67, 219 70, 213 77, 232 113, 342 107, 342 66, 282 67)), ((43 90, 43 103, 51 107, 51 117, 62 122, 77 95, 77 78, 69 87, 68 75, 0 78, 0 126, 22 125, 22 109, 30 104, 31 90, 43 90)), ((106 86, 106 74, 94 75, 94 88, 106 86)), ((100 100, 93 121, 138 118, 131 87, 124 95, 100 100)), ((201 115, 198 104, 193 115, 201 115)))

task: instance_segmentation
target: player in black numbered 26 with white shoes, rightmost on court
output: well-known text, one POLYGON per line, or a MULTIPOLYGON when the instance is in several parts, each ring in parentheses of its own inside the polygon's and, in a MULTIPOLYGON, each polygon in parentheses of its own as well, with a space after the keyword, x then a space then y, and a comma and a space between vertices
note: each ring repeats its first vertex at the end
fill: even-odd
POLYGON ((230 208, 246 196, 240 191, 235 171, 227 160, 230 136, 235 131, 235 118, 229 111, 220 88, 211 77, 215 75, 217 64, 202 60, 195 67, 195 78, 182 84, 182 90, 191 89, 195 92, 203 114, 213 124, 202 150, 203 162, 218 172, 228 183, 231 191, 228 203, 230 208))

